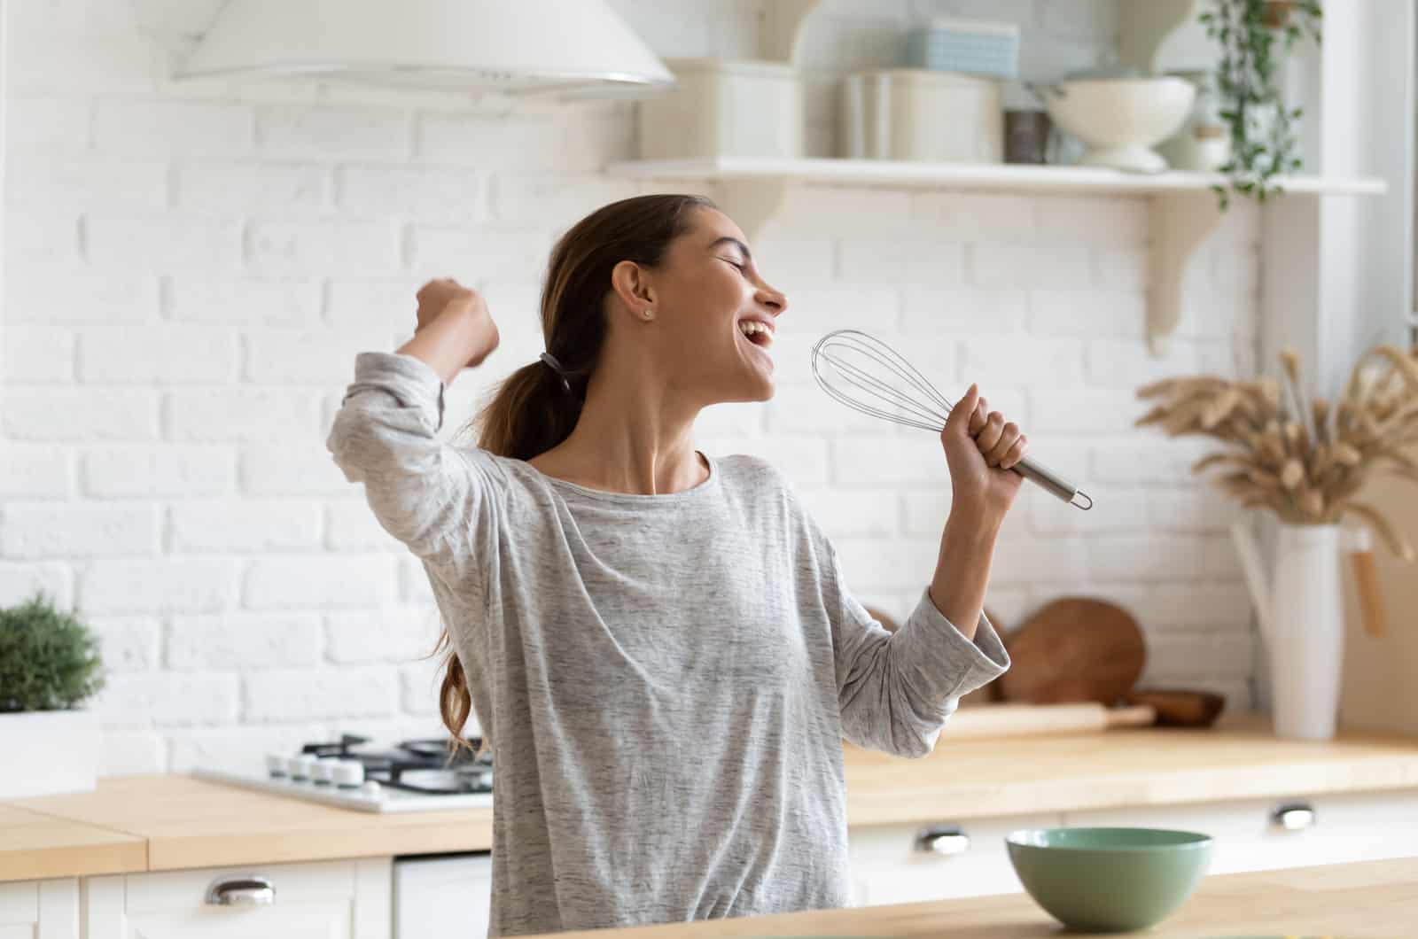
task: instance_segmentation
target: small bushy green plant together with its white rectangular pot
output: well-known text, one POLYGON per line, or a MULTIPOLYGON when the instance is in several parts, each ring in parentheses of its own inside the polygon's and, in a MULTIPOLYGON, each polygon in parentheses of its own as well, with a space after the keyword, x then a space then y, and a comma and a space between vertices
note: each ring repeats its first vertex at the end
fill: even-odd
POLYGON ((92 790, 99 728, 79 705, 104 687, 89 628, 37 591, 0 607, 0 750, 23 755, 0 773, 0 797, 92 790))

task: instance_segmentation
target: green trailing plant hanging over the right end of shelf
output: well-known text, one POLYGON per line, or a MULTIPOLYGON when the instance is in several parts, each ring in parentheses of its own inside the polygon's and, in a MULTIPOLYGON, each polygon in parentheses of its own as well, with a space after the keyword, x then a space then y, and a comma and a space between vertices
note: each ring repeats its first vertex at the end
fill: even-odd
MULTIPOLYGON (((1276 84, 1283 55, 1305 35, 1320 41, 1319 0, 1212 0, 1198 18, 1221 45, 1217 92, 1221 118, 1231 129, 1231 159, 1221 172, 1231 189, 1265 201, 1283 191, 1278 176, 1300 169, 1293 122, 1300 108, 1288 108, 1276 84)), ((1231 201, 1224 186, 1212 187, 1222 211, 1231 201)))

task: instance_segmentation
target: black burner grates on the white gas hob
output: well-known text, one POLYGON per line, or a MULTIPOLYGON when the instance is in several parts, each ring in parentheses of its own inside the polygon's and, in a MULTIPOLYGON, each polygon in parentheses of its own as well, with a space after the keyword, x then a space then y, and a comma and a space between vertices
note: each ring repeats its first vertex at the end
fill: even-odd
POLYGON ((448 755, 448 739, 401 740, 391 750, 363 750, 369 738, 340 735, 336 743, 306 743, 301 753, 356 760, 364 766, 364 779, 380 786, 430 796, 491 793, 492 755, 474 756, 481 738, 464 738, 472 749, 459 748, 448 755))

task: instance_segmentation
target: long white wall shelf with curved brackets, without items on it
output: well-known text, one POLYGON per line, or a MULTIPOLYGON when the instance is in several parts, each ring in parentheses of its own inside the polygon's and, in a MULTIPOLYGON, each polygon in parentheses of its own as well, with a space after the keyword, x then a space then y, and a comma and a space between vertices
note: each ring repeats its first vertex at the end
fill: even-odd
MULTIPOLYGON (((1147 342, 1153 355, 1166 352, 1181 316, 1183 274, 1197 248, 1221 221, 1214 186, 1219 173, 1123 173, 1095 166, 1021 166, 913 163, 899 160, 706 157, 631 160, 607 170, 621 179, 715 183, 716 201, 754 238, 777 214, 788 187, 855 186, 1035 194, 1143 196, 1150 203, 1147 238, 1147 342)), ((1282 199, 1380 196, 1383 179, 1288 176, 1278 184, 1282 199)))

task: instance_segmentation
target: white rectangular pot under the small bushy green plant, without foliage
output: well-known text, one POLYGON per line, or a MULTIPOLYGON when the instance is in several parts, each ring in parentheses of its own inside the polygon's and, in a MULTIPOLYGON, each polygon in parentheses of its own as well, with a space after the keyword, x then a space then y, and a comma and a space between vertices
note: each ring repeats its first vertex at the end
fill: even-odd
POLYGON ((21 757, 0 773, 0 799, 94 791, 98 716, 92 711, 0 713, 0 753, 21 757))

